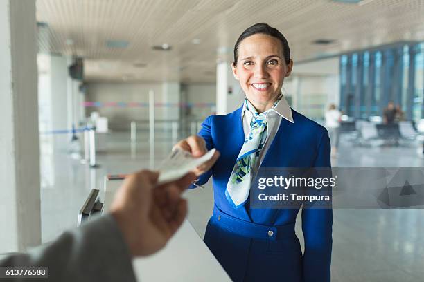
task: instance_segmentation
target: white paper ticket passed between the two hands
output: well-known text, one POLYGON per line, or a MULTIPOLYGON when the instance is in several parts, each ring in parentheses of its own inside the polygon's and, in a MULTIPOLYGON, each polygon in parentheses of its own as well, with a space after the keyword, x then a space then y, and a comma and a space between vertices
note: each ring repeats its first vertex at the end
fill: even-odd
POLYGON ((200 158, 193 158, 190 152, 176 148, 159 166, 158 184, 182 178, 200 164, 211 160, 213 153, 215 149, 211 149, 200 158))

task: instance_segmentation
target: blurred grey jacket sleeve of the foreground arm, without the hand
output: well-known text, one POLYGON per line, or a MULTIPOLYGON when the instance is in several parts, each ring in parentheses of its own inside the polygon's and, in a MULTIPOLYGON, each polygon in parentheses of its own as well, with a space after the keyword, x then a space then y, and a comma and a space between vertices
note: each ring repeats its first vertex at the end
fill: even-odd
POLYGON ((48 267, 48 279, 30 281, 136 281, 131 261, 116 220, 108 214, 26 254, 8 256, 0 266, 48 267))

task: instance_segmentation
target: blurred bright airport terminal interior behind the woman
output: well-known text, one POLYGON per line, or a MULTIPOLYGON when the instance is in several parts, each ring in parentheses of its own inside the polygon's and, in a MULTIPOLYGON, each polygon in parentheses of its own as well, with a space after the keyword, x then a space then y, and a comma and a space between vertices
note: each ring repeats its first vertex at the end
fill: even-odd
MULTIPOLYGON (((424 167, 421 0, 37 0, 29 7, 2 6, 8 3, 26 26, 35 19, 37 77, 31 85, 37 91, 31 101, 38 106, 13 111, 35 111, 38 118, 38 131, 20 136, 38 138, 39 156, 30 161, 39 163, 41 243, 76 227, 92 189, 102 201, 108 177, 158 169, 206 117, 242 105, 245 95, 231 71, 233 46, 258 22, 279 29, 290 45, 294 66, 283 95, 292 109, 323 126, 330 105, 339 110, 332 167, 424 167)), ((1 22, 4 34, 17 32, 12 19, 1 22)), ((8 62, 19 64, 11 54, 8 62)), ((12 76, 8 83, 33 80, 12 76)), ((16 131, 24 123, 11 126, 16 131)), ((15 158, 2 176, 26 162, 15 158)), ((332 280, 423 281, 423 191, 414 191, 423 202, 412 206, 333 209, 332 280)), ((203 238, 212 181, 184 196, 188 222, 203 238)), ((303 247, 300 212, 296 232, 303 247)))

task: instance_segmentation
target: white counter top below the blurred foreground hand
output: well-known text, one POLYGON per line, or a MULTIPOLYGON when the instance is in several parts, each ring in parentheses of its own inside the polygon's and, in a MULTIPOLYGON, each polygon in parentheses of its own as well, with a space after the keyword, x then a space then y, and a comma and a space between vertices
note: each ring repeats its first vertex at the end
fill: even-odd
MULTIPOLYGON (((103 211, 109 209, 122 182, 105 178, 103 211)), ((134 259, 133 266, 138 281, 143 282, 231 281, 187 219, 163 250, 134 259)))

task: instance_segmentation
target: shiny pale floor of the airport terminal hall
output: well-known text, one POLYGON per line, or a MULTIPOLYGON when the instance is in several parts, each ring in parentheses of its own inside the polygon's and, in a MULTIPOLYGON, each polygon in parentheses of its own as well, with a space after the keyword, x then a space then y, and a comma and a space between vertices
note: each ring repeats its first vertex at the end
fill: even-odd
MULTIPOLYGON (((157 135, 154 166, 170 151, 170 136, 157 135)), ((90 169, 67 153, 42 153, 42 238, 49 241, 76 225, 91 188, 101 189, 107 173, 148 168, 148 135, 141 133, 136 151, 129 133, 113 133, 107 153, 98 153, 90 169)), ((416 147, 354 147, 343 142, 333 167, 424 167, 416 147)), ((203 236, 213 207, 211 183, 186 192, 189 216, 203 236)), ((423 281, 424 209, 334 209, 333 281, 423 281)), ((300 217, 297 234, 302 241, 300 217)))

